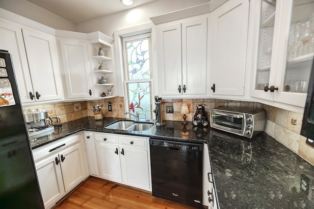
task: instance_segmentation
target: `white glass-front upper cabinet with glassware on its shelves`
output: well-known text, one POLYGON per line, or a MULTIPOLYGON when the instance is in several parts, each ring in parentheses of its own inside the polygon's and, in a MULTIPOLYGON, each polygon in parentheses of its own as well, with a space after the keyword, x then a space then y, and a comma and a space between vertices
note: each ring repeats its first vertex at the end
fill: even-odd
POLYGON ((304 107, 314 57, 314 0, 260 0, 253 8, 260 17, 251 96, 304 107))

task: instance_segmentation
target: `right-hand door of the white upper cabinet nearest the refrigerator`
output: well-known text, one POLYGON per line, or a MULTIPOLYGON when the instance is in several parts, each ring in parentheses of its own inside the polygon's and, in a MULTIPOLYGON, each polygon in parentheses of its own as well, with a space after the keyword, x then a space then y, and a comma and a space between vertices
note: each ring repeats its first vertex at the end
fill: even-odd
POLYGON ((61 100, 63 89, 55 37, 24 28, 22 32, 33 87, 31 92, 34 94, 33 99, 35 101, 61 100))

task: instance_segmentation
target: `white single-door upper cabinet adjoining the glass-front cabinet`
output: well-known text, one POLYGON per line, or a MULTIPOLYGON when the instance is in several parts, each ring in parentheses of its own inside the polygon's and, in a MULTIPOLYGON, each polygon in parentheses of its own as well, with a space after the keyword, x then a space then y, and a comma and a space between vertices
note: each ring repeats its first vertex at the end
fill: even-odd
POLYGON ((229 0, 210 14, 209 95, 244 95, 249 0, 229 0))

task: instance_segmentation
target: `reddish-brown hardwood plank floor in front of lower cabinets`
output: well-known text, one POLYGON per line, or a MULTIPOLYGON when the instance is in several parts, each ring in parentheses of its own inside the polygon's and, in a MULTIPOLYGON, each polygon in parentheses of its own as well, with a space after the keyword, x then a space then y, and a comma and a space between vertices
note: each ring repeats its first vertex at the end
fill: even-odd
POLYGON ((55 209, 194 209, 151 193, 89 178, 55 209))

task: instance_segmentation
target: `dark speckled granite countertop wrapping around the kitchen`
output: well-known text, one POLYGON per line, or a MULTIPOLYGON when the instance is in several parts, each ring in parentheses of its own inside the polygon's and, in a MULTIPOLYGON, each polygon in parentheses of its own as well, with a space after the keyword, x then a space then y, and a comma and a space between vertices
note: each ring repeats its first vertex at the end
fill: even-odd
POLYGON ((207 142, 221 209, 313 209, 314 166, 287 147, 260 133, 252 139, 214 129, 187 125, 188 139, 181 135, 180 121, 165 121, 144 132, 105 129, 123 118, 84 117, 55 128, 52 139, 32 141, 32 149, 82 130, 153 137, 188 142, 207 142))

